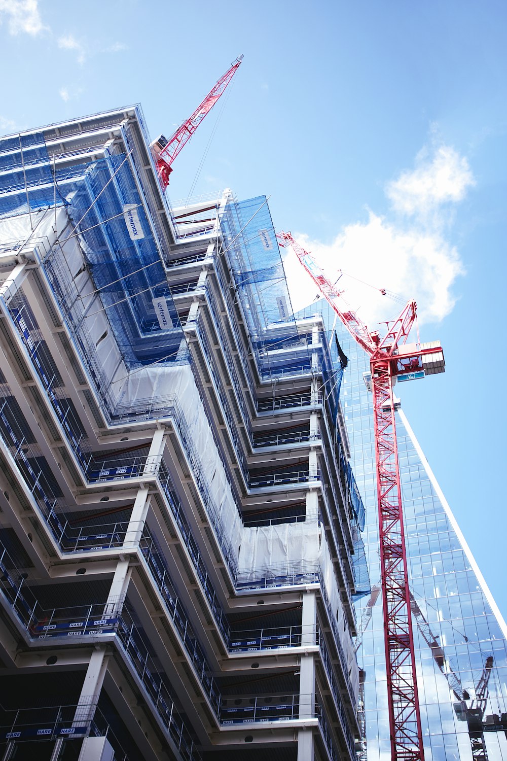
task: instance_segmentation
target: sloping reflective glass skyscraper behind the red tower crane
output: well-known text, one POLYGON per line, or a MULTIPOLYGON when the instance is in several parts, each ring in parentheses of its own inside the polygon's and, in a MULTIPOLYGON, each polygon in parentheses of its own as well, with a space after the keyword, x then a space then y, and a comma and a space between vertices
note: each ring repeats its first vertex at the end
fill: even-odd
MULTIPOLYGON (((316 311, 334 323, 327 303, 317 302, 305 314, 316 311)), ((371 618, 365 613, 380 580, 372 403, 363 377, 369 361, 339 321, 336 330, 349 359, 341 402, 353 472, 366 505, 363 538, 373 589, 371 597, 356 603, 358 626, 365 626, 357 658, 365 673, 366 753, 368 761, 386 761, 391 751, 379 595, 371 618)), ((395 393, 402 395, 402 384, 395 393)), ((401 407, 396 418, 425 756, 507 759, 505 622, 401 407)))

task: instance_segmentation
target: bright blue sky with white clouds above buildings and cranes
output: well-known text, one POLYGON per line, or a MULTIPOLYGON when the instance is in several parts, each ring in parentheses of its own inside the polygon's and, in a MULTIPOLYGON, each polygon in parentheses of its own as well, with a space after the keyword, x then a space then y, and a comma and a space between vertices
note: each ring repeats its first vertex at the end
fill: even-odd
MULTIPOLYGON (((169 134, 245 54, 170 197, 271 195, 275 228, 330 272, 417 298, 447 366, 405 384, 404 409, 504 615, 506 16, 496 0, 0 0, 0 133, 141 102, 169 134)), ((297 306, 309 286, 291 280, 297 306)), ((342 282, 370 326, 398 313, 342 282)))

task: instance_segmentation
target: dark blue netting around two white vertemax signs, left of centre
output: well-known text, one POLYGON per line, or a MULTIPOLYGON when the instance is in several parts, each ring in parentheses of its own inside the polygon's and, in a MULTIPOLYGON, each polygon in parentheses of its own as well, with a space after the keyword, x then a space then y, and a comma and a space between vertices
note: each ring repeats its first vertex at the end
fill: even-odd
MULTIPOLYGON (((114 155, 58 174, 68 212, 81 231, 84 256, 128 368, 176 358, 183 339, 144 206, 125 155, 114 155), (135 213, 132 240, 125 207, 135 213), (139 228, 139 229, 138 229, 139 228), (160 326, 154 299, 168 316, 160 326)), ((179 355, 179 359, 181 359, 179 355)))

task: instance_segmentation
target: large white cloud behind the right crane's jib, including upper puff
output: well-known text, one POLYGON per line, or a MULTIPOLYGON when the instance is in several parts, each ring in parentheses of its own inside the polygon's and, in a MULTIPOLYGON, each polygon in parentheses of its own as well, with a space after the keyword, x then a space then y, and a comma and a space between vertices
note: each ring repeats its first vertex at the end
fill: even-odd
MULTIPOLYGON (((448 225, 453 207, 473 184, 466 158, 447 145, 433 145, 418 155, 414 170, 401 172, 386 186, 392 218, 368 210, 367 221, 346 225, 331 244, 305 234, 297 239, 332 281, 343 271, 337 287, 364 322, 373 326, 398 311, 380 288, 404 301, 415 298, 421 322, 439 321, 455 306, 452 287, 464 275, 458 250, 448 240, 448 225)), ((291 250, 284 264, 293 306, 301 308, 317 288, 291 250)))

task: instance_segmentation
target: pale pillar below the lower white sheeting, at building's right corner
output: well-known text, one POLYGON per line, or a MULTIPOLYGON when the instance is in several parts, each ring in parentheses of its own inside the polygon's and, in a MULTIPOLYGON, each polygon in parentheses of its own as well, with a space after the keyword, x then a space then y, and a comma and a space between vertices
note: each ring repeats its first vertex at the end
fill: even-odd
MULTIPOLYGON (((301 618, 303 647, 315 645, 317 626, 317 595, 314 591, 303 594, 303 614, 301 618)), ((301 656, 299 677, 299 718, 315 718, 315 653, 301 656)), ((300 729, 297 739, 297 761, 313 761, 315 756, 312 729, 300 729)))

